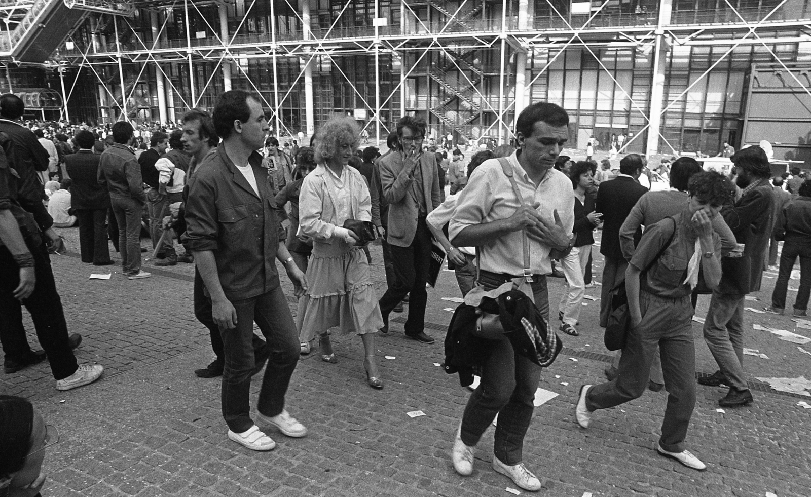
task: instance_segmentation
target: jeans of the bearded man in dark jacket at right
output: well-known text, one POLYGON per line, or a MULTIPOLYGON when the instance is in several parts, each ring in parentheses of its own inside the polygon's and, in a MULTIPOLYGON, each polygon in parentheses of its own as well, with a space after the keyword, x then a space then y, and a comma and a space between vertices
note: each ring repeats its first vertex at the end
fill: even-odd
POLYGON ((727 376, 727 384, 738 390, 749 388, 744 375, 744 301, 743 293, 718 293, 710 299, 704 321, 704 341, 727 376))

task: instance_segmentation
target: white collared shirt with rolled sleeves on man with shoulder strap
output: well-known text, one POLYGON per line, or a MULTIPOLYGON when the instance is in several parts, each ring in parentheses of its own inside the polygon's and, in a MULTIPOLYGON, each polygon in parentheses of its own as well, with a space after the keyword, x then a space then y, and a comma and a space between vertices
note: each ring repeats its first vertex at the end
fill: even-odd
MULTIPOLYGON (((572 181, 557 169, 549 169, 539 186, 535 186, 526 171, 518 163, 517 152, 508 157, 513 166, 513 178, 524 201, 534 199, 543 218, 554 223, 553 212, 557 210, 563 229, 572 233, 574 226, 574 189, 572 181)), ((467 186, 461 191, 456 211, 448 226, 453 240, 470 225, 480 225, 512 216, 521 203, 513 193, 513 186, 497 159, 484 161, 474 169, 467 186)), ((530 238, 530 269, 533 274, 551 273, 549 252, 551 246, 530 238)), ((504 235, 495 242, 479 247, 484 271, 520 276, 524 269, 521 231, 504 235)))

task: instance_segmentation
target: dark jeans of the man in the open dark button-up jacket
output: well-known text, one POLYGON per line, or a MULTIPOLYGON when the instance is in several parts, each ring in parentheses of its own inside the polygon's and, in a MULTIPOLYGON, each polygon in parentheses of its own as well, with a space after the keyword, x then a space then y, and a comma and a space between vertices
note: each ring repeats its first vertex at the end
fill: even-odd
POLYGON ((222 415, 231 431, 242 433, 251 420, 251 371, 254 368, 253 324, 268 341, 270 358, 264 371, 256 410, 272 417, 285 408, 290 376, 298 364, 298 332, 281 286, 259 296, 231 301, 237 327, 220 328, 225 352, 222 373, 222 415))

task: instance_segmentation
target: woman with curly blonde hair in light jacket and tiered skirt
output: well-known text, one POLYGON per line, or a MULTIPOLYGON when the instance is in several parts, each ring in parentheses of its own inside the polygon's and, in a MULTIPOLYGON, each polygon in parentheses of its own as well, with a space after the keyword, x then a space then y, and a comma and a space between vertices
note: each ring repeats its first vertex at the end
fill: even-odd
POLYGON ((304 178, 298 198, 298 231, 313 244, 307 267, 310 287, 298 302, 297 324, 303 342, 318 332, 324 362, 337 362, 329 328, 360 335, 367 382, 383 388, 375 360, 375 332, 383 327, 383 317, 360 238, 343 227, 346 220, 371 221, 369 188, 348 165, 359 132, 352 119, 332 118, 315 135, 317 166, 304 178))

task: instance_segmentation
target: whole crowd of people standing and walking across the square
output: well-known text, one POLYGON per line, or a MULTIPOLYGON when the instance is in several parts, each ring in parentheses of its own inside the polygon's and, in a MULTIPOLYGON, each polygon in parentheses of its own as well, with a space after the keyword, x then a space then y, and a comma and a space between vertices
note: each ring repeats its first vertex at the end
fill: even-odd
MULTIPOLYGON (((575 419, 589 428, 599 409, 633 400, 646 388, 665 388, 655 450, 692 469, 706 468, 685 448, 697 395, 691 328, 697 295, 711 294, 703 335, 719 365, 699 383, 729 387, 719 400, 724 407, 753 402, 743 370, 742 309, 745 295, 760 288, 761 273, 776 263, 770 243, 784 246, 766 311, 785 312, 788 277, 799 257, 793 313, 806 315, 811 183, 800 169, 773 178, 760 147, 730 152, 725 144, 729 174, 704 171, 689 156, 650 167, 645 156, 627 154, 615 164, 625 135, 611 136, 614 152, 601 164, 592 160, 596 140, 578 161, 561 153, 569 115, 546 102, 521 112, 513 144, 485 140, 467 151, 470 158, 453 134, 440 143, 427 139, 426 123, 410 116, 397 122, 382 154, 374 146, 359 148, 368 133, 351 118, 328 120, 310 144, 301 133, 280 142, 268 136, 260 100, 242 91, 225 92, 212 114, 192 109, 168 127, 21 122, 23 113, 18 97, 0 96, 6 374, 47 359, 59 390, 101 377, 103 366, 79 365, 73 353, 82 337, 67 330, 50 267, 49 252, 65 250, 54 227, 79 225, 83 263, 113 264, 112 241, 129 280, 152 276, 142 268, 144 232, 156 266, 195 263, 195 317, 208 328, 216 356, 195 374, 222 376, 227 436, 252 450, 276 443, 251 417, 251 377, 265 369, 259 422, 290 437, 307 435, 288 410, 287 388, 298 358, 315 349, 316 339, 324 367, 337 362, 330 328, 359 336, 366 383, 375 389, 385 382, 375 336, 390 332, 390 315, 403 312, 404 302, 405 337, 435 341, 425 332, 434 242, 444 249, 463 297, 524 281, 543 319, 539 327, 578 336, 585 289, 597 285, 594 230, 602 229, 599 325, 607 326, 610 293, 620 285, 627 289, 631 324, 605 371, 607 382, 582 386, 575 419), (650 191, 654 182, 669 188, 650 191), (375 293, 368 250, 377 240, 387 282, 382 295, 375 293), (277 261, 294 285, 296 319, 277 261), (547 276, 565 282, 556 296, 557 327, 547 276), (28 345, 21 306, 31 313, 44 351, 28 345)), ((493 469, 538 491, 522 443, 543 368, 508 340, 478 340, 455 345, 464 348, 480 380, 461 413, 453 467, 463 476, 472 473, 474 450, 498 415, 493 469)), ((42 443, 41 416, 30 403, 2 397, 0 414, 28 423, 19 443, 42 443)), ((27 451, 19 454, 0 465, 0 477, 13 482, 25 465, 36 463, 27 451)), ((28 473, 32 478, 15 485, 36 490, 40 475, 28 473)))

